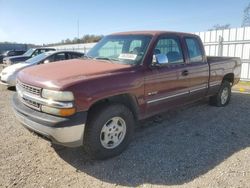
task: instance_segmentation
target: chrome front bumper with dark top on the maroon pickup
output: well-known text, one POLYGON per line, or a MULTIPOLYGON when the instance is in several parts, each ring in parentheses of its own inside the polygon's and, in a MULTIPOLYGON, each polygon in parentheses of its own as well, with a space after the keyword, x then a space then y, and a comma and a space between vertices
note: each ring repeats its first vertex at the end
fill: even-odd
POLYGON ((25 106, 17 94, 13 96, 12 106, 15 116, 26 128, 47 137, 53 143, 67 147, 83 145, 86 112, 78 112, 70 118, 52 116, 25 106))

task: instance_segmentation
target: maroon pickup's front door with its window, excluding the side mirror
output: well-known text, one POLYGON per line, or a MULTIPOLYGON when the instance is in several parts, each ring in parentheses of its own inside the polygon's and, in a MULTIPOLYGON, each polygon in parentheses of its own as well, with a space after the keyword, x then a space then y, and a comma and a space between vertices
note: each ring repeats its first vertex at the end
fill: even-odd
POLYGON ((179 38, 161 37, 154 49, 154 56, 157 54, 165 55, 167 61, 158 65, 153 58, 145 73, 146 116, 185 104, 189 97, 189 83, 183 72, 187 64, 179 38))

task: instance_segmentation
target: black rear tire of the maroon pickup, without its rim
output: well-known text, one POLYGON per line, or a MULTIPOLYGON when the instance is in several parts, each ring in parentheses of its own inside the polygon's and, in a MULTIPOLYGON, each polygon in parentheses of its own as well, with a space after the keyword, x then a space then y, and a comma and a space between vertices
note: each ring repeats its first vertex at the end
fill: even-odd
POLYGON ((228 105, 231 99, 231 84, 228 81, 223 81, 217 95, 210 97, 210 104, 217 107, 223 107, 228 105), (222 99, 223 91, 228 90, 228 97, 226 100, 222 99))

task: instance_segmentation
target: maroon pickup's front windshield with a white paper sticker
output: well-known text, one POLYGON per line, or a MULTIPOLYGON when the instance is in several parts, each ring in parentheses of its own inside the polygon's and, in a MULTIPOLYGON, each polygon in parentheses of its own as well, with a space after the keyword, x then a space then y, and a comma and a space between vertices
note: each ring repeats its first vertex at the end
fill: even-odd
POLYGON ((149 35, 106 36, 87 53, 87 57, 138 65, 146 53, 151 38, 149 35))

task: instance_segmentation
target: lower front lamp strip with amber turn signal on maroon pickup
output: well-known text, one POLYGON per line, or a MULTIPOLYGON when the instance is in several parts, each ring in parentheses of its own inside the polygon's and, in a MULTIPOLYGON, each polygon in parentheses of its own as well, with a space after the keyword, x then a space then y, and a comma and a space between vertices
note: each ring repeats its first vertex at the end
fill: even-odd
POLYGON ((45 113, 57 116, 71 116, 76 112, 75 108, 53 108, 49 106, 42 106, 41 109, 45 113))

